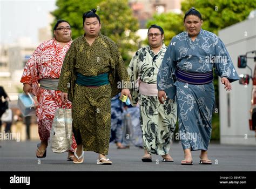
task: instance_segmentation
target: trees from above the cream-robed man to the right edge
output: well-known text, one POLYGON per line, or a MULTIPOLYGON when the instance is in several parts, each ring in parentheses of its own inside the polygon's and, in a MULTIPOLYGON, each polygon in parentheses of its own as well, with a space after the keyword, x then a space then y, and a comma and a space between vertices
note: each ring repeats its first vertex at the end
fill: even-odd
POLYGON ((185 30, 183 25, 184 15, 192 7, 196 8, 202 15, 202 28, 218 35, 220 29, 244 21, 250 12, 256 9, 256 1, 187 0, 181 2, 183 14, 172 12, 160 15, 154 14, 153 18, 147 22, 147 27, 149 28, 152 24, 160 25, 165 32, 165 45, 168 45, 172 37, 185 30))

